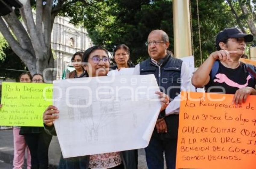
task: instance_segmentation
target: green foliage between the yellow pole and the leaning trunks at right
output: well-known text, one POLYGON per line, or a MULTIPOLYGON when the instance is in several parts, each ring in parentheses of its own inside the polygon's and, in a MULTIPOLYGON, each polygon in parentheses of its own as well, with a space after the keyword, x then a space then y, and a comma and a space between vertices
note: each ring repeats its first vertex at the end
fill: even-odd
MULTIPOLYGON (((191 1, 192 31, 195 65, 201 64, 199 48, 199 30, 196 1, 191 1)), ((202 61, 208 58, 211 52, 216 50, 215 38, 224 28, 236 26, 236 21, 229 10, 229 6, 223 0, 198 1, 198 13, 201 35, 202 61)))

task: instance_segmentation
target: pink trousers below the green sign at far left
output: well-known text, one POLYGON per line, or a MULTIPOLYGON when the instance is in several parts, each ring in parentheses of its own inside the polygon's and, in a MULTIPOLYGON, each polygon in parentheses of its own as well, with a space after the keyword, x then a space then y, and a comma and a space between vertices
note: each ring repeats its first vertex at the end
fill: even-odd
POLYGON ((25 143, 23 135, 20 135, 20 128, 13 128, 13 140, 14 140, 14 159, 13 169, 22 169, 24 163, 25 150, 27 147, 27 169, 31 168, 31 156, 28 146, 25 143))

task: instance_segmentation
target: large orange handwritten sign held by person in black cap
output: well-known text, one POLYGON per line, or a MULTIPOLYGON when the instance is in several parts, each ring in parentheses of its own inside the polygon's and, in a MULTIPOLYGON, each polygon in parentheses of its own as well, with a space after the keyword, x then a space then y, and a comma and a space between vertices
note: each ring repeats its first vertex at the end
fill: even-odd
POLYGON ((242 105, 229 94, 181 96, 176 168, 255 168, 256 96, 242 105))

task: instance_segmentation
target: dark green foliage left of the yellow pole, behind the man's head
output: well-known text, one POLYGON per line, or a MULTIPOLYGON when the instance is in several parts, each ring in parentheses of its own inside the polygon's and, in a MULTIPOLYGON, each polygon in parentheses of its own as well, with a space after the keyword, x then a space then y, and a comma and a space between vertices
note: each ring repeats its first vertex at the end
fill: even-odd
MULTIPOLYGON (((84 13, 84 17, 71 12, 65 16, 72 16, 74 24, 83 23, 95 45, 103 45, 111 52, 116 45, 124 43, 130 47, 134 63, 148 57, 145 42, 151 30, 162 29, 173 41, 173 13, 169 0, 112 0, 95 3, 87 10, 74 8, 84 13)), ((173 50, 173 43, 169 49, 173 50)))

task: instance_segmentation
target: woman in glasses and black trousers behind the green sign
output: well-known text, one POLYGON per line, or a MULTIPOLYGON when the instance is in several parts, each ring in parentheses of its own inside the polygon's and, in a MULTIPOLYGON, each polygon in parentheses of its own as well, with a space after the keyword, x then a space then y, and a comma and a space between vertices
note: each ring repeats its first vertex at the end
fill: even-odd
MULTIPOLYGON (((43 83, 39 73, 32 77, 33 83, 43 83)), ((24 135, 31 154, 31 169, 48 169, 48 149, 52 135, 45 132, 44 127, 21 127, 20 135, 24 135)))

